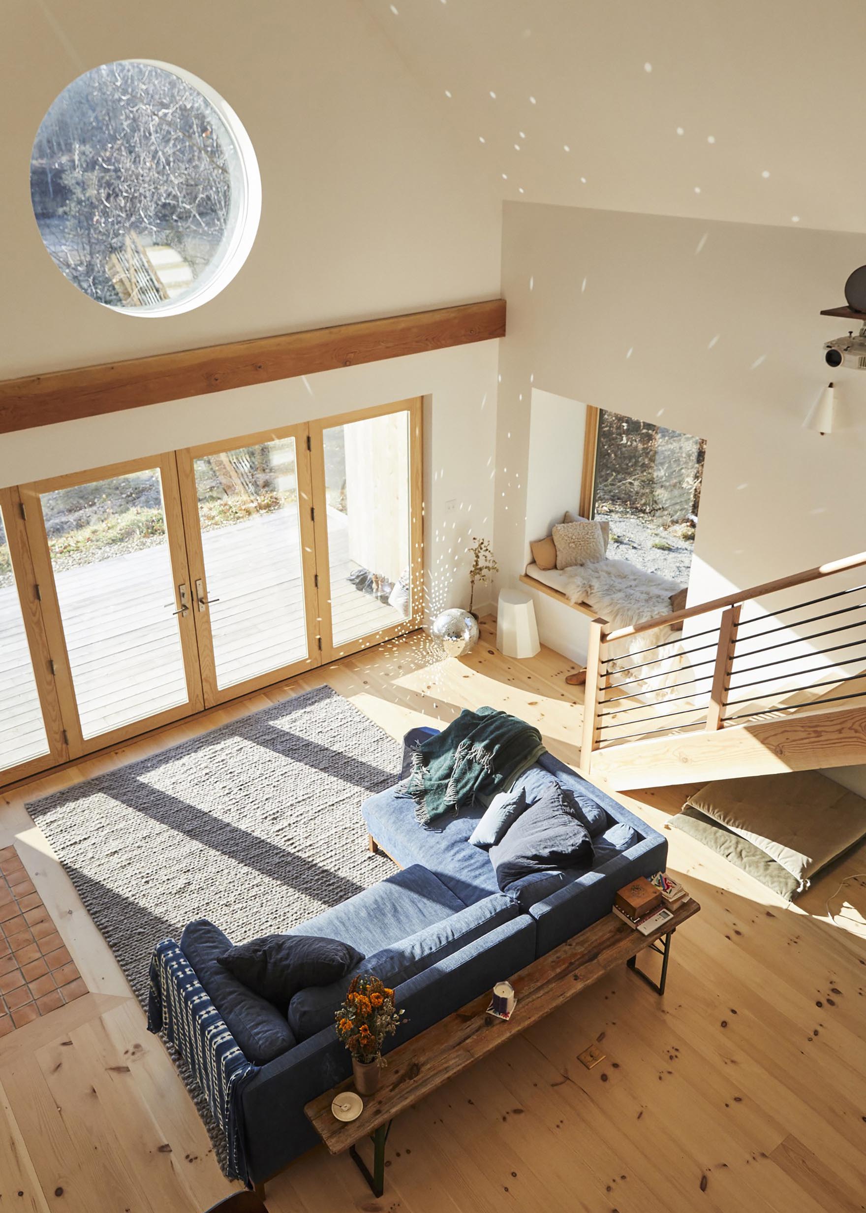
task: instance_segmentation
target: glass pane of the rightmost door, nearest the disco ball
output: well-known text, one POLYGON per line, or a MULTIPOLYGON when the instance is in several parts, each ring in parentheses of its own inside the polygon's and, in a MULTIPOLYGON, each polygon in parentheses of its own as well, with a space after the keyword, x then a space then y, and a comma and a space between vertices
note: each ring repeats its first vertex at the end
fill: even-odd
POLYGON ((412 616, 410 414, 323 429, 335 650, 412 616))

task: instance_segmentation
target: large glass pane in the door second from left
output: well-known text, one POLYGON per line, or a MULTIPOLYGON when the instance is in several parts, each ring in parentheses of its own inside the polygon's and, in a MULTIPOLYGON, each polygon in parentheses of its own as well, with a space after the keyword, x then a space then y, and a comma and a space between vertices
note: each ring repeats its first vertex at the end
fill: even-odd
POLYGON ((82 738, 188 704, 160 468, 40 500, 82 738))

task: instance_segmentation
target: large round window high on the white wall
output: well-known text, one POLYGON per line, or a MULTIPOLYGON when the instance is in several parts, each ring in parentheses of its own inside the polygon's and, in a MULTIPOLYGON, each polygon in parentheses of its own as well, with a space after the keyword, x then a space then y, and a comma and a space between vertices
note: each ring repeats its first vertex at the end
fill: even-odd
POLYGON ((149 59, 104 63, 45 115, 30 198, 58 269, 130 315, 187 312, 217 295, 252 247, 261 180, 229 106, 149 59))

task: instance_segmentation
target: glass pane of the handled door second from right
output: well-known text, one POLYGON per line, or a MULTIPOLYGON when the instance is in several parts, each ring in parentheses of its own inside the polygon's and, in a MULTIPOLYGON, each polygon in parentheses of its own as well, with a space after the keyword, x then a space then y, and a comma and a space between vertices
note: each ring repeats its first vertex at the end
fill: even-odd
POLYGON ((224 690, 308 656, 296 440, 198 455, 193 469, 205 574, 196 622, 201 643, 209 613, 224 690))

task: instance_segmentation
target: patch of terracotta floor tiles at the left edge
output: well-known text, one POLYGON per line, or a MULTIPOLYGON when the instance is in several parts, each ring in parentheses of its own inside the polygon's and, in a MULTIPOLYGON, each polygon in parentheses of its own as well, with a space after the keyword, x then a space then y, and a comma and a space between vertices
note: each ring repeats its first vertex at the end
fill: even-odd
POLYGON ((15 847, 0 850, 0 1036, 87 993, 15 847))

